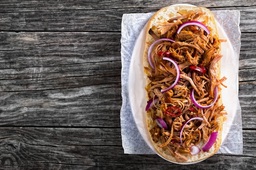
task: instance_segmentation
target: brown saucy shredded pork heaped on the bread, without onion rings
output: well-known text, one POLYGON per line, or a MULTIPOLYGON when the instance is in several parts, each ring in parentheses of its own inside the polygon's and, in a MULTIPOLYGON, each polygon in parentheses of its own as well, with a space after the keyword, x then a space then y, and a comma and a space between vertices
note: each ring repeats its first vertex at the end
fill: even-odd
POLYGON ((150 88, 147 89, 149 97, 159 98, 159 101, 149 111, 153 119, 161 117, 168 126, 168 129, 161 129, 156 125, 150 133, 156 143, 161 142, 159 147, 166 147, 178 162, 187 160, 184 154, 189 154, 191 146, 199 144, 200 141, 206 142, 211 132, 219 127, 216 121, 218 116, 226 114, 225 107, 218 106, 218 101, 207 109, 199 109, 191 102, 190 93, 194 88, 195 99, 198 103, 204 106, 211 104, 215 86, 223 85, 227 79, 226 77, 218 79, 216 73, 216 63, 222 57, 218 53, 220 42, 225 40, 218 40, 216 35, 207 35, 203 29, 193 25, 184 27, 178 35, 176 33, 180 24, 189 20, 198 20, 202 15, 197 11, 190 11, 185 15, 181 14, 171 18, 168 22, 159 23, 157 32, 160 37, 156 37, 150 29, 150 35, 155 40, 159 38, 175 40, 174 43, 160 43, 152 54, 155 69, 145 69, 150 73, 148 78, 151 83, 150 88), (173 84, 177 72, 173 64, 162 60, 166 54, 158 55, 159 51, 169 52, 169 57, 177 62, 181 71, 178 84, 165 93, 161 93, 161 89, 173 84), (207 71, 201 73, 189 66, 201 66, 207 71), (166 114, 169 107, 177 108, 176 110, 180 110, 181 114, 177 117, 166 114), (180 136, 182 125, 191 117, 202 117, 204 121, 190 121, 180 136), (180 138, 183 141, 182 145, 180 138))

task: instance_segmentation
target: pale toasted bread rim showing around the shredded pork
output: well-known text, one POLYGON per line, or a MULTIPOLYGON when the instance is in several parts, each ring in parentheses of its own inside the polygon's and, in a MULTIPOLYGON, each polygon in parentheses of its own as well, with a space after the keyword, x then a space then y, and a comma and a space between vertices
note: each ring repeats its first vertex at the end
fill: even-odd
MULTIPOLYGON (((213 14, 211 13, 211 11, 207 8, 204 7, 190 7, 190 6, 168 6, 168 7, 164 7, 162 9, 160 9, 159 11, 157 11, 152 18, 149 20, 148 22, 148 26, 146 29, 146 44, 145 44, 145 48, 144 48, 144 57, 143 57, 143 64, 144 64, 144 68, 145 67, 150 67, 149 62, 148 62, 148 48, 150 46, 150 44, 152 44, 155 40, 153 39, 153 37, 151 35, 149 35, 148 31, 150 28, 153 28, 153 31, 156 35, 160 36, 156 29, 154 29, 157 24, 163 23, 168 21, 170 18, 174 18, 179 16, 180 14, 177 13, 177 11, 181 11, 182 13, 187 13, 190 10, 197 10, 197 11, 202 11, 204 13, 204 16, 202 18, 200 18, 200 20, 198 20, 199 22, 206 22, 207 27, 210 29, 211 34, 216 35, 217 38, 219 38, 218 36, 218 31, 216 28, 216 23, 213 17, 213 14)), ((218 50, 218 53, 221 53, 221 50, 218 50)), ((217 62, 216 64, 216 75, 218 77, 218 79, 220 79, 220 60, 217 62)), ((145 77, 145 81, 146 81, 146 89, 148 90, 150 88, 150 79, 148 78, 148 76, 150 76, 150 73, 144 69, 144 77, 145 77)), ((218 94, 220 95, 220 98, 218 99, 218 106, 222 105, 222 96, 221 96, 221 91, 220 88, 218 88, 218 94)), ((149 99, 148 95, 146 96, 147 100, 149 99)), ((151 116, 152 114, 150 113, 150 111, 146 112, 146 118, 147 118, 147 126, 148 126, 148 132, 155 126, 155 122, 154 119, 151 116)), ((222 125, 223 125, 223 116, 219 116, 218 119, 218 124, 219 124, 219 128, 218 128, 218 137, 216 139, 215 144, 213 145, 213 147, 211 147, 207 152, 200 152, 198 155, 190 155, 190 154, 184 154, 184 156, 186 156, 186 158, 188 159, 187 161, 184 162, 195 162, 195 161, 200 161, 202 159, 207 159, 208 157, 211 157, 212 155, 214 155, 220 148, 221 145, 221 136, 222 136, 222 125)), ((165 159, 169 160, 169 161, 173 161, 173 162, 180 162, 177 161, 175 159, 175 157, 173 157, 171 155, 171 153, 168 151, 168 149, 166 148, 160 148, 158 145, 162 144, 160 141, 158 141, 157 143, 155 143, 153 141, 153 138, 150 134, 150 137, 152 139, 152 143, 155 147, 155 149, 157 150, 158 154, 161 155, 162 157, 164 157, 165 159)), ((202 146, 203 143, 202 141, 198 144, 198 146, 202 146)))

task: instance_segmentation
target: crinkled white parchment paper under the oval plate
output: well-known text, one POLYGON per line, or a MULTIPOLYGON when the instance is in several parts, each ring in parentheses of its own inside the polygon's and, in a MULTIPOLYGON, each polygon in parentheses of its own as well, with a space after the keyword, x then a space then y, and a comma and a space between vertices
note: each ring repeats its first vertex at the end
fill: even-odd
MULTIPOLYGON (((242 119, 241 119, 241 108, 238 100, 238 61, 240 52, 240 11, 212 11, 216 21, 220 24, 223 29, 225 37, 228 37, 232 49, 232 55, 230 51, 222 48, 223 56, 228 55, 230 57, 222 57, 222 63, 225 63, 225 67, 221 68, 221 73, 229 79, 227 90, 222 90, 222 97, 227 97, 227 102, 224 103, 228 115, 223 130, 227 130, 225 138, 222 139, 222 144, 218 153, 229 153, 229 154, 242 154, 243 153, 243 134, 242 134, 242 119)), ((129 91, 133 88, 129 84, 129 75, 131 74, 130 66, 133 49, 140 32, 143 30, 145 24, 151 18, 154 13, 130 13, 124 14, 121 23, 121 85, 122 85, 122 99, 123 103, 120 110, 121 119, 121 137, 122 146, 124 153, 126 154, 156 154, 154 150, 148 146, 144 137, 141 135, 140 130, 137 127, 138 117, 132 113, 136 112, 136 108, 131 108, 131 103, 134 103, 134 97, 129 97, 129 91)), ((224 35, 220 35, 221 36, 224 35)), ((134 55, 134 54, 133 54, 134 55)), ((140 53, 138 52, 138 57, 140 53)), ((142 87, 141 91, 144 90, 142 87)), ((130 94, 131 96, 131 94, 130 94)), ((132 94, 136 97, 136 94, 132 94)), ((144 114, 144 113, 141 113, 144 114)), ((223 136, 223 135, 222 135, 223 136)))

